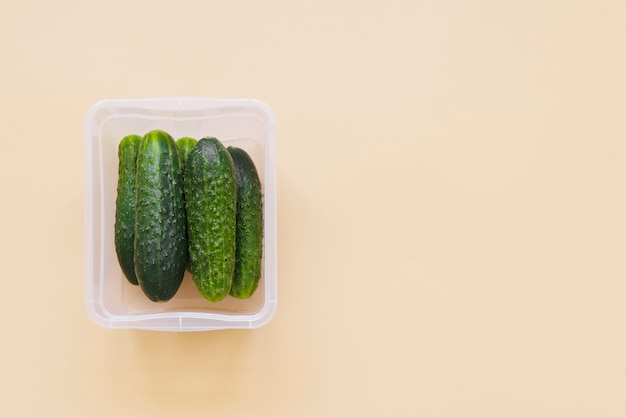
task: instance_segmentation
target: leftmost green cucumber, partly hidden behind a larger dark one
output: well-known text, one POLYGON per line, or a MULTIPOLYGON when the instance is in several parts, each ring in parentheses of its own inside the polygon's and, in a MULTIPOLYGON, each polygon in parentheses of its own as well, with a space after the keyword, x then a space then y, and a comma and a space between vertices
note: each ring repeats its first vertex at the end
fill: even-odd
POLYGON ((122 138, 117 148, 118 180, 115 200, 115 252, 126 279, 137 285, 135 274, 135 177, 141 136, 122 138))

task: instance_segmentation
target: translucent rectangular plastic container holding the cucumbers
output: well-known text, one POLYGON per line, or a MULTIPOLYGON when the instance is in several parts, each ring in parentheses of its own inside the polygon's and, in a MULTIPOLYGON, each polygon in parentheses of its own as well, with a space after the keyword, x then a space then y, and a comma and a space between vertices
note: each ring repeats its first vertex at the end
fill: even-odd
POLYGON ((255 99, 157 98, 103 100, 85 116, 85 307, 106 328, 207 331, 258 328, 277 304, 276 118, 255 99), (114 246, 115 199, 121 139, 153 129, 183 136, 218 138, 250 154, 263 185, 263 273, 249 299, 227 296, 214 303, 197 291, 191 275, 165 303, 150 301, 122 274, 114 246))

